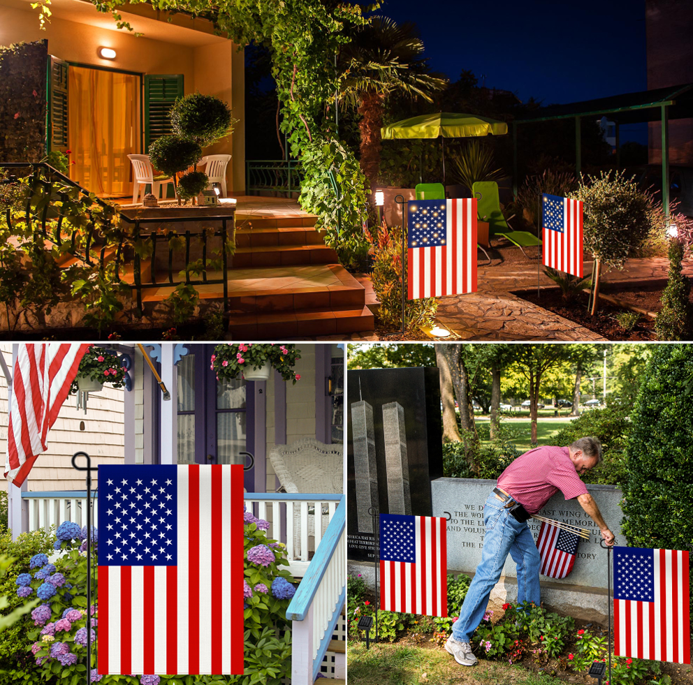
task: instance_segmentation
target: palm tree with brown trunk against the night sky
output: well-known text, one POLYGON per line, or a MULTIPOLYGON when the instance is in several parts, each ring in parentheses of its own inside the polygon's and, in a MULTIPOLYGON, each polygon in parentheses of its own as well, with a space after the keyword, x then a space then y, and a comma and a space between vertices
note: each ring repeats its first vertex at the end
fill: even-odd
POLYGON ((374 189, 380 168, 383 105, 394 93, 432 102, 432 93, 447 81, 428 73, 423 41, 416 24, 398 26, 388 17, 374 16, 359 27, 340 55, 344 78, 340 99, 361 115, 360 166, 374 189))

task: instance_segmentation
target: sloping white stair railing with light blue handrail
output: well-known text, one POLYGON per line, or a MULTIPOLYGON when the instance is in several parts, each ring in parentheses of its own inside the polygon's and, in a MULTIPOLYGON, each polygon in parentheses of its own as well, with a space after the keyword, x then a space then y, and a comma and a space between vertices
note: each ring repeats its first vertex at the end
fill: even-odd
POLYGON ((312 685, 346 600, 346 499, 323 536, 286 610, 291 628, 291 684, 312 685))

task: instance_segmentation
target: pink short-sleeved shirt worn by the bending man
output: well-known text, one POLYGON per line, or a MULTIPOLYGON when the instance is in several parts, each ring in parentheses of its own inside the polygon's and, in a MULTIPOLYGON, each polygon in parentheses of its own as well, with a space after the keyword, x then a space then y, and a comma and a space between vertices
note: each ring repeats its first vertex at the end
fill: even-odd
POLYGON ((565 499, 587 494, 567 447, 537 447, 515 459, 498 478, 527 512, 536 514, 559 490, 565 499))

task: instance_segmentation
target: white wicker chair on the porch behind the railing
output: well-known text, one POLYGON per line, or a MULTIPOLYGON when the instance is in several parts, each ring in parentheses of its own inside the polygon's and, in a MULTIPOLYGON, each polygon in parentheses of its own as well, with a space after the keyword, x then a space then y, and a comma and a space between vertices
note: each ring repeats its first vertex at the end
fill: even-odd
MULTIPOLYGON (((344 445, 326 445, 314 438, 300 438, 291 445, 270 450, 270 463, 284 492, 339 494, 344 478, 344 445)), ((328 526, 328 510, 321 511, 321 531, 328 526)), ((300 510, 293 514, 293 547, 300 554, 300 510)), ((315 535, 315 513, 309 508, 308 535, 315 535)), ((314 551, 314 550, 312 550, 314 551)))

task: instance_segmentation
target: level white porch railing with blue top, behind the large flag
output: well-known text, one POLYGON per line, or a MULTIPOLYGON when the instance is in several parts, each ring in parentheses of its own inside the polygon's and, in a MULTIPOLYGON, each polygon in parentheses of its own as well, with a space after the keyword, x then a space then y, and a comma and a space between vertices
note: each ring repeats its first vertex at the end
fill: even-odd
MULTIPOLYGON (((92 497, 98 499, 98 492, 92 497)), ((256 517, 270 522, 268 538, 286 545, 289 570, 302 576, 308 568, 312 552, 318 549, 323 531, 335 515, 340 494, 304 494, 246 492, 245 506, 256 517), (321 522, 316 525, 315 513, 321 522)), ((30 531, 50 530, 64 521, 87 525, 87 491, 22 492, 29 509, 30 531)), ((98 507, 92 509, 94 526, 99 527, 98 507)))

